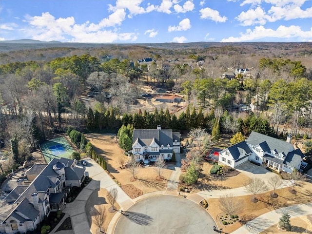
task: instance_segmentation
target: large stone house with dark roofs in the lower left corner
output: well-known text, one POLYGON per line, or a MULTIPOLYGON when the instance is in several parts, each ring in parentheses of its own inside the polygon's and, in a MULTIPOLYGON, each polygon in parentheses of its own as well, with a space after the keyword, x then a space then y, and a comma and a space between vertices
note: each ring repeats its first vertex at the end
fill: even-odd
POLYGON ((80 187, 85 178, 85 167, 77 163, 68 158, 54 158, 49 164, 35 164, 26 173, 25 183, 20 182, 5 197, 14 204, 0 224, 0 233, 33 231, 51 211, 62 209, 71 187, 80 187))

